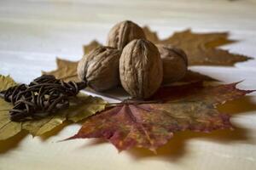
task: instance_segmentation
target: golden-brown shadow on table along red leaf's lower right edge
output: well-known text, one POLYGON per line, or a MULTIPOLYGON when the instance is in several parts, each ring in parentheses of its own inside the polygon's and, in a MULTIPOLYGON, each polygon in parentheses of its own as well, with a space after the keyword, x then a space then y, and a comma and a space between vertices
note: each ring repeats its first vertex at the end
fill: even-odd
POLYGON ((235 141, 250 143, 250 139, 247 136, 247 129, 236 127, 235 130, 232 131, 225 129, 217 130, 212 133, 195 133, 189 131, 175 133, 167 144, 157 150, 156 155, 150 150, 140 148, 129 150, 129 152, 135 159, 158 156, 168 161, 177 161, 179 158, 186 155, 186 143, 190 139, 202 139, 203 141, 207 140, 219 144, 230 144, 235 141))

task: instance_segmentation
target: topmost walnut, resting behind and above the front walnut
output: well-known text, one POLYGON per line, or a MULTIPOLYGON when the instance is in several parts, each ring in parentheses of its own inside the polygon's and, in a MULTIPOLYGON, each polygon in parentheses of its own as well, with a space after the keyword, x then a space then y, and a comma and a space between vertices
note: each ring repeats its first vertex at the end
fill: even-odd
POLYGON ((143 29, 130 20, 119 22, 108 32, 107 46, 122 50, 134 39, 144 38, 143 29))

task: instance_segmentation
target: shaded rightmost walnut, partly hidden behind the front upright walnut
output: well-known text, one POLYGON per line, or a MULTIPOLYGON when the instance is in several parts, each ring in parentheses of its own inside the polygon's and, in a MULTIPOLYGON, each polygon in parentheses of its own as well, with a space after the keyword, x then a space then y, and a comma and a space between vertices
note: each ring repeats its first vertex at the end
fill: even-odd
POLYGON ((176 82, 182 79, 188 70, 187 55, 181 48, 172 45, 156 45, 163 61, 163 82, 176 82))

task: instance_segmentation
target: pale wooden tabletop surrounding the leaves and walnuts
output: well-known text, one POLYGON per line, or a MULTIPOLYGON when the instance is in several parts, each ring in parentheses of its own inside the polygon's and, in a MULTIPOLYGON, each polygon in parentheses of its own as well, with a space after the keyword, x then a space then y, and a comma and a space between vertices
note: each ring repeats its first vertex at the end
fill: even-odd
MULTIPOLYGON (((105 42, 121 20, 149 25, 166 37, 173 31, 230 31, 240 40, 231 52, 256 56, 256 1, 253 0, 1 0, 0 74, 30 82, 55 69, 55 57, 78 60, 82 45, 105 42)), ((235 67, 195 66, 195 71, 223 82, 244 80, 239 88, 256 88, 256 61, 235 67)), ((147 150, 118 153, 93 139, 57 143, 79 130, 64 127, 52 137, 20 135, 0 142, 0 170, 13 169, 243 169, 256 167, 256 94, 220 108, 233 114, 234 131, 177 133, 156 156, 147 150), (254 103, 254 104, 253 104, 254 103)))

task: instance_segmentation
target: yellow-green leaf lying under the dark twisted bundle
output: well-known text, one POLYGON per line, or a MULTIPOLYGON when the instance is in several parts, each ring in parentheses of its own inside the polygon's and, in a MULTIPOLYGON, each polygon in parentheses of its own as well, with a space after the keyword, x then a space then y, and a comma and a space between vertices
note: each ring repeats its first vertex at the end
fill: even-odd
MULTIPOLYGON (((14 86, 16 83, 11 77, 0 75, 0 91, 14 86)), ((54 115, 47 116, 40 120, 26 122, 11 122, 9 110, 13 105, 0 98, 0 140, 9 139, 21 130, 26 130, 33 136, 41 136, 65 121, 79 122, 84 118, 94 115, 97 111, 103 111, 106 102, 101 98, 78 94, 70 99, 70 106, 67 109, 58 111, 54 115)))

